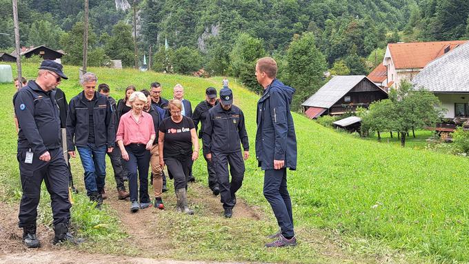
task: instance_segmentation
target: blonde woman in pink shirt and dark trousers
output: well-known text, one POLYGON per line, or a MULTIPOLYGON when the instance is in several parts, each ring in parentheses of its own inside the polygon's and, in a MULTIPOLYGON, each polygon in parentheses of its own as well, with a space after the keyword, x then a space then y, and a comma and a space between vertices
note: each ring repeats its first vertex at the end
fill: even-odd
POLYGON ((143 106, 147 101, 146 96, 141 92, 134 92, 130 95, 129 101, 132 110, 121 117, 116 140, 129 171, 130 212, 137 212, 152 204, 148 196, 148 167, 150 149, 156 134, 152 116, 143 111, 143 106), (137 185, 137 170, 140 192, 137 185), (137 192, 139 192, 139 199, 137 199, 137 192))

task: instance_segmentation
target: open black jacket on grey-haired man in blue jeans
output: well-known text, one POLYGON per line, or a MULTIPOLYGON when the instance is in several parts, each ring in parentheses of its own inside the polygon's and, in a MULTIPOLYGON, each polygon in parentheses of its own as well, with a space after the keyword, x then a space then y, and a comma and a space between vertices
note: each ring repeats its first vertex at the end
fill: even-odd
MULTIPOLYGON (((70 100, 67 116, 67 146, 68 151, 74 151, 75 145, 88 145, 88 105, 83 102, 85 95, 80 92, 70 100)), ((94 92, 93 107, 94 145, 107 148, 114 147, 116 133, 112 122, 112 111, 108 97, 94 92)))

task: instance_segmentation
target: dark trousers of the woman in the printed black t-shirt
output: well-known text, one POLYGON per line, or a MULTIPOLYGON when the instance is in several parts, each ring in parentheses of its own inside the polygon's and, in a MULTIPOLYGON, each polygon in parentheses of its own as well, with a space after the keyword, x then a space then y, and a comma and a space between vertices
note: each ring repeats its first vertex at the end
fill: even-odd
POLYGON ((188 187, 190 167, 192 167, 192 154, 177 157, 165 157, 164 162, 168 173, 174 179, 174 190, 188 187))

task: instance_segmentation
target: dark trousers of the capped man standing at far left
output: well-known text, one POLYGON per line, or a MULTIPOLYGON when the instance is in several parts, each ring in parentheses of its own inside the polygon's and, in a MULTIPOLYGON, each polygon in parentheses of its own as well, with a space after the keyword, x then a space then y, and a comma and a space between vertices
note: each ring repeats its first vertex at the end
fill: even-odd
POLYGON ((36 225, 37 205, 41 197, 41 183, 46 183, 50 194, 54 225, 68 223, 70 220, 70 201, 68 201, 68 167, 63 159, 62 149, 49 150, 50 161, 39 160, 40 154, 34 153, 32 163, 25 163, 26 150, 18 150, 19 175, 23 196, 19 204, 19 227, 36 225))

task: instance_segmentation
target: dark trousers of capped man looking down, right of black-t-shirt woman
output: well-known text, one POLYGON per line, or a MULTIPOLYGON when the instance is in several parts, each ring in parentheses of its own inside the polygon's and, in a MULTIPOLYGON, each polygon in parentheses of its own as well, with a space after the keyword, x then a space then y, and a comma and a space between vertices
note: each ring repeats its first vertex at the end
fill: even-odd
POLYGON ((236 192, 243 185, 244 178, 244 160, 241 151, 232 153, 212 152, 212 162, 217 174, 220 187, 220 201, 223 208, 234 207, 236 192), (230 164, 230 175, 228 174, 228 164, 230 164))

